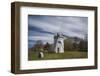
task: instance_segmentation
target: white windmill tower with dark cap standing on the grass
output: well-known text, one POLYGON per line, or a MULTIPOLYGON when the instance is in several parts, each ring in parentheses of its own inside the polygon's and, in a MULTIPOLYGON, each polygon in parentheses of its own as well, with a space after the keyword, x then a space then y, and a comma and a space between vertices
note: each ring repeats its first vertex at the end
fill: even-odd
POLYGON ((55 53, 64 53, 64 36, 61 33, 61 25, 60 30, 54 35, 54 48, 55 53))

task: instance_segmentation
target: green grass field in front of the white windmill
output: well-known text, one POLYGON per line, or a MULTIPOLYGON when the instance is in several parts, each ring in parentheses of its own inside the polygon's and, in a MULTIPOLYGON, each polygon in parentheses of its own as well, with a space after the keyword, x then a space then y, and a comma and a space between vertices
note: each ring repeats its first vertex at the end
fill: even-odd
POLYGON ((87 58, 87 52, 65 51, 64 53, 44 53, 44 58, 38 58, 38 54, 29 51, 28 60, 50 60, 50 59, 75 59, 87 58))

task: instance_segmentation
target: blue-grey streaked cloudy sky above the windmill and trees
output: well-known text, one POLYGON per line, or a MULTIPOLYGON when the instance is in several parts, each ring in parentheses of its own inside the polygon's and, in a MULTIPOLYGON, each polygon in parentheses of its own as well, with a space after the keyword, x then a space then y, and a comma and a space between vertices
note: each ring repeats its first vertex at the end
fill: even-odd
POLYGON ((53 43, 54 34, 84 38, 88 31, 88 18, 75 16, 28 16, 28 47, 37 40, 53 43))

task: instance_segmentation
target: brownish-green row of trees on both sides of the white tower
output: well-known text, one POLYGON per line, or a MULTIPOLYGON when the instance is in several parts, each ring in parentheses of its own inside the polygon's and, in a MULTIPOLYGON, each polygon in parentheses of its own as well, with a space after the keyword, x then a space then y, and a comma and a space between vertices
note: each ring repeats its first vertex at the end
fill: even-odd
MULTIPOLYGON (((36 41, 36 44, 30 48, 31 51, 39 52, 49 52, 50 48, 53 44, 49 42, 43 44, 41 40, 36 41)), ((73 39, 65 39, 64 40, 64 51, 88 51, 88 41, 86 39, 80 39, 78 37, 74 37, 73 39)))

